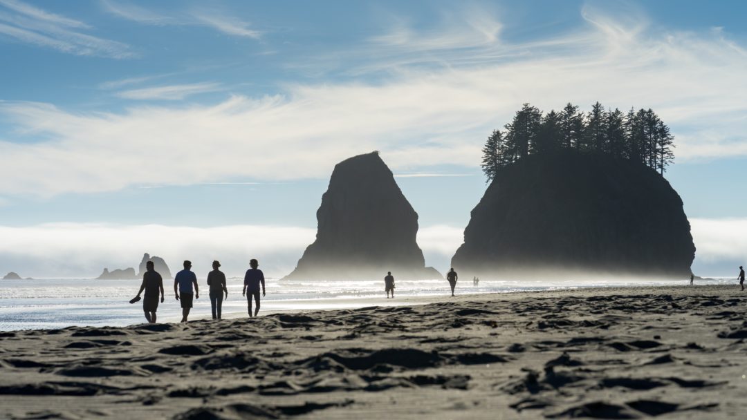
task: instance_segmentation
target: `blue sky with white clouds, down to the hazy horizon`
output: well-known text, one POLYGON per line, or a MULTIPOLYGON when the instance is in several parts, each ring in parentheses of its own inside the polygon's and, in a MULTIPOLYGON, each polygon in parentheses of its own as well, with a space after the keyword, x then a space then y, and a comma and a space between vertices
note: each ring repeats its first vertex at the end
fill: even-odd
POLYGON ((0 275, 294 268, 380 151, 443 271, 480 148, 530 102, 651 107, 696 275, 747 263, 743 1, 0 0, 0 275))

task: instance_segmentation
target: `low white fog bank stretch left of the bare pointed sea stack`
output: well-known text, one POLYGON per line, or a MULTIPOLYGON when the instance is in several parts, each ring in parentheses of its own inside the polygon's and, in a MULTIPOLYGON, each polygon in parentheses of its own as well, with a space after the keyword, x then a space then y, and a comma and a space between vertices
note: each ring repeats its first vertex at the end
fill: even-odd
POLYGON ((315 235, 316 229, 250 225, 0 227, 0 268, 24 277, 95 277, 104 267, 137 271, 140 258, 148 252, 163 257, 172 274, 182 268, 183 260, 191 260, 199 275, 207 275, 212 261, 220 260, 226 274, 238 275, 248 268, 250 258, 258 258, 267 275, 279 277, 291 272, 315 235))

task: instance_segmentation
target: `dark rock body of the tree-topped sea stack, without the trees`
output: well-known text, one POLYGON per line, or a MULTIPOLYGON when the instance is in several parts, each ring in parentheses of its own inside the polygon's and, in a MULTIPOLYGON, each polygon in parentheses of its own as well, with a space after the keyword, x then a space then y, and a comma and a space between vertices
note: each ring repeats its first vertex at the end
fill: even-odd
POLYGON ((465 278, 582 271, 689 279, 694 257, 682 200, 666 179, 642 163, 566 150, 498 171, 452 266, 465 278))

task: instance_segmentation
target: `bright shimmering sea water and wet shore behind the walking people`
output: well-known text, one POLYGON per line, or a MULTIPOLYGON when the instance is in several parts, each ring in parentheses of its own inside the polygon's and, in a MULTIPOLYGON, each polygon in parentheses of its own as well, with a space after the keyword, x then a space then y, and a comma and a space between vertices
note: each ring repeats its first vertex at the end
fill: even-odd
MULTIPOLYGON (((643 287, 685 285, 689 280, 459 280, 457 294, 504 293, 532 290, 578 289, 586 287, 643 287)), ((695 280, 696 285, 736 285, 733 278, 695 280)), ((210 298, 205 279, 199 279, 200 298, 194 301, 190 319, 210 317, 210 298)), ((241 296, 243 279, 227 280, 229 296, 223 313, 246 313, 247 299, 241 296)), ((0 280, 0 330, 26 330, 78 326, 124 326, 145 322, 142 301, 129 304, 140 288, 140 280, 92 280, 47 278, 0 280)), ((181 308, 174 296, 173 281, 164 280, 165 301, 158 306, 159 322, 178 322, 181 308)), ((397 297, 450 295, 446 280, 397 280, 397 297)), ((289 310, 325 310, 371 306, 385 299, 383 280, 297 281, 267 279, 267 296, 261 313, 289 310)))

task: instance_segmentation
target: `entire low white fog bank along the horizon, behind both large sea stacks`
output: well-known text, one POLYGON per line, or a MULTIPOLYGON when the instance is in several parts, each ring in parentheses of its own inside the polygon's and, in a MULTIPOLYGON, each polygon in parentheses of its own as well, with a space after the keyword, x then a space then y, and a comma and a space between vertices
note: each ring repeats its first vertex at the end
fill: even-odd
MULTIPOLYGON (((695 265, 718 266, 731 272, 733 262, 747 263, 747 219, 691 219, 698 248, 695 265)), ((426 263, 443 272, 462 244, 463 228, 435 225, 418 231, 426 263)), ((0 227, 0 275, 24 277, 99 275, 108 269, 137 269, 143 252, 164 257, 173 272, 191 260, 206 275, 217 259, 229 275, 240 275, 249 258, 258 258, 269 276, 287 275, 311 242, 316 229, 290 226, 234 225, 187 228, 164 225, 47 224, 24 228, 0 227)), ((710 275, 712 273, 698 273, 710 275)))

